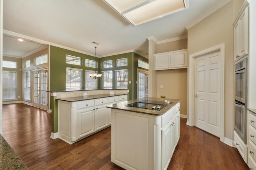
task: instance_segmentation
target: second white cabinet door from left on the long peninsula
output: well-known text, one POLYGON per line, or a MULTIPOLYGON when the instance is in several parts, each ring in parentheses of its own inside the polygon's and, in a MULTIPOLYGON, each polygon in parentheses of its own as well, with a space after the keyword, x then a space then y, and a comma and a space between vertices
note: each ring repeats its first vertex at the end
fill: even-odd
POLYGON ((108 108, 106 105, 95 106, 95 130, 108 126, 108 108))

